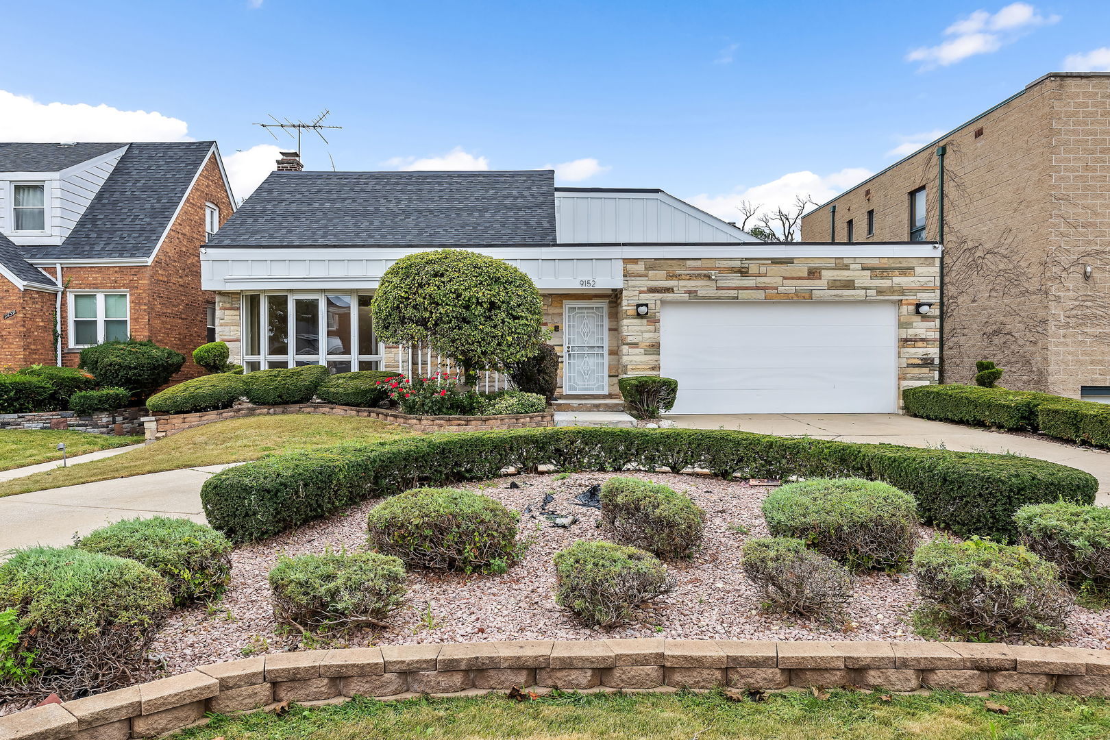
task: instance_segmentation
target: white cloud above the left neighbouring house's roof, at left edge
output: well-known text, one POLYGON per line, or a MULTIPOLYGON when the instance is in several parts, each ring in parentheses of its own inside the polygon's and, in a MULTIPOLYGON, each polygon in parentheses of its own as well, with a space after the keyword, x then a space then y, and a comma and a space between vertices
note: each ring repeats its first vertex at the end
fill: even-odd
POLYGON ((40 103, 0 90, 0 141, 185 141, 189 124, 101 103, 40 103))

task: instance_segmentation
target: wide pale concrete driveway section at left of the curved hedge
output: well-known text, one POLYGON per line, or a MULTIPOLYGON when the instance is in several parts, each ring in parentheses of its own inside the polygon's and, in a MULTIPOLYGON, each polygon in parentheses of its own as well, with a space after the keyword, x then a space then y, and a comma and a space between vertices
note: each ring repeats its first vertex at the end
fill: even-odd
POLYGON ((0 498, 0 551, 70 545, 105 524, 157 515, 204 523, 201 485, 230 465, 165 470, 0 498))

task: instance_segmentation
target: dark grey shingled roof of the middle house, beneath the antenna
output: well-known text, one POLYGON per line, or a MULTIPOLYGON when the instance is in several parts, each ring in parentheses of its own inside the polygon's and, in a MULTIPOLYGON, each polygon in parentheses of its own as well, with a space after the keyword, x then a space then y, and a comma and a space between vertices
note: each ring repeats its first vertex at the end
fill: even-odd
POLYGON ((273 172, 208 246, 553 244, 555 174, 273 172))

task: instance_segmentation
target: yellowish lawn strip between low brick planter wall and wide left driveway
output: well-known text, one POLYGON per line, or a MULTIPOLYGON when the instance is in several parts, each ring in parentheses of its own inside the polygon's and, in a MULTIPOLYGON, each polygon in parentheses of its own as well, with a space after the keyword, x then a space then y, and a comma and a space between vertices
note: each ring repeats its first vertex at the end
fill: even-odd
POLYGON ((412 433, 395 424, 357 416, 250 416, 185 429, 118 457, 9 480, 0 484, 0 496, 162 470, 242 463, 258 459, 266 453, 326 447, 343 442, 380 442, 405 434, 412 433))

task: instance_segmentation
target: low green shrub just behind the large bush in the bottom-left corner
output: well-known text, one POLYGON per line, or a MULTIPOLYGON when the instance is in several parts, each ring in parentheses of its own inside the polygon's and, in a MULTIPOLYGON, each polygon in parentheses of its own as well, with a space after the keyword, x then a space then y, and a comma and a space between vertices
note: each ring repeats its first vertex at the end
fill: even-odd
POLYGON ((178 607, 212 601, 231 580, 231 543, 212 527, 189 519, 125 519, 94 529, 77 547, 131 558, 161 574, 178 607))

